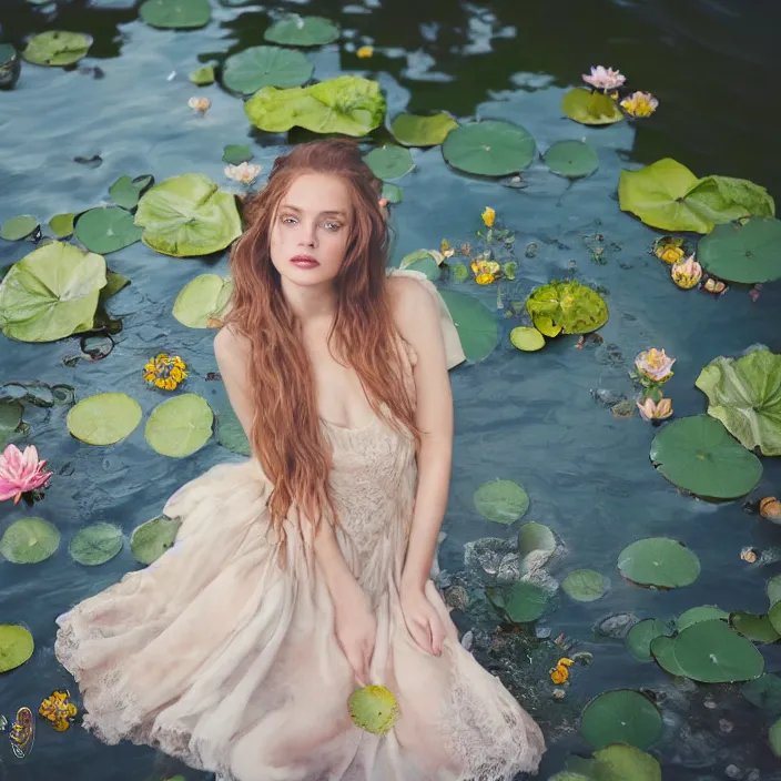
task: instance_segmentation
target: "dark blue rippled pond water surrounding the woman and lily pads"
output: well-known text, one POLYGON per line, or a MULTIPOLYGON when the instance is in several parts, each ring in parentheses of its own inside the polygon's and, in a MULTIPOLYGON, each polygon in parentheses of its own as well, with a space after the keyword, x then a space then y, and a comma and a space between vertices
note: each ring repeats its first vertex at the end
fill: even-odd
MULTIPOLYGON (((666 394, 678 417, 697 415, 707 400, 693 383, 709 362, 738 356, 758 343, 781 352, 781 286, 765 284, 757 301, 748 285, 732 285, 718 298, 676 288, 667 267, 649 254, 661 232, 621 212, 617 197, 622 169, 667 156, 698 175, 750 179, 781 196, 771 115, 773 103, 778 111, 781 77, 779 7, 739 0, 212 4, 207 27, 168 31, 144 24, 129 0, 3 0, 0 42, 21 49, 30 34, 61 29, 89 33, 94 43, 77 68, 23 63, 17 87, 0 92, 0 223, 33 214, 45 224, 54 214, 105 203, 109 186, 123 174, 150 173, 160 182, 201 172, 227 186, 222 152, 231 143, 251 144, 253 162, 267 172, 287 136, 255 131, 239 98, 217 84, 196 88, 187 74, 263 43, 263 31, 283 10, 337 21, 341 41, 306 52, 315 78, 354 73, 376 79, 386 92, 389 116, 405 109, 440 109, 459 121, 509 120, 525 126, 540 150, 562 139, 586 139, 598 153, 599 170, 571 186, 539 159, 523 173, 521 187, 465 176, 446 165, 439 148, 414 149, 416 169, 397 182, 404 200, 392 212, 395 264, 419 247, 437 247, 444 237, 454 246, 474 241, 480 213, 489 205, 516 233, 516 297, 570 275, 600 290, 610 308, 601 345, 577 349, 577 337, 570 336, 538 353, 516 351, 507 335, 518 323, 497 313, 499 346, 485 361, 453 372, 456 439, 439 564, 448 574, 444 582, 453 578, 470 586, 475 604, 474 610, 454 610, 454 619, 463 630, 476 629, 480 661, 503 676, 546 729, 550 747, 540 778, 561 770, 570 754, 589 755, 578 714, 591 698, 631 688, 653 691, 659 701, 665 729, 650 751, 666 780, 781 779, 767 738, 773 717, 750 704, 738 687, 672 682, 653 662, 635 659, 620 639, 594 631, 612 615, 667 620, 699 605, 763 613, 765 581, 781 572, 775 554, 781 529, 747 513, 744 499, 712 504, 679 493, 649 460, 657 429, 637 415, 616 417, 594 397, 595 390, 606 389, 631 398, 628 371, 635 355, 665 347, 677 358, 666 394), (373 44, 375 53, 359 60, 354 50, 364 43, 373 44), (632 85, 653 92, 660 101, 657 113, 645 122, 608 128, 564 118, 562 94, 597 63, 620 68, 632 85), (212 101, 203 116, 187 106, 194 94, 212 101), (605 247, 600 263, 591 257, 595 242, 605 247), (518 524, 493 524, 475 511, 474 491, 496 477, 521 484, 531 501, 524 520, 546 524, 560 538, 561 555, 550 566, 554 578, 588 568, 609 582, 606 596, 592 602, 557 596, 538 625, 540 635, 547 633, 540 629, 549 630, 551 639, 564 633, 576 643, 572 651, 594 656, 590 666, 572 668, 562 700, 551 694, 548 668, 564 651, 528 638, 520 645, 497 643, 474 572, 465 571, 467 542, 509 540, 517 534, 518 524), (618 554, 651 536, 672 537, 696 551, 702 571, 693 585, 655 591, 621 578, 618 554), (758 564, 741 560, 747 546, 763 551, 758 564)), ((32 248, 29 241, 0 241, 0 266, 32 248)), ((77 399, 122 390, 146 415, 161 394, 144 385, 141 368, 160 352, 175 352, 191 369, 187 389, 217 403, 219 384, 206 378, 216 369, 213 332, 185 328, 172 317, 171 306, 196 275, 225 273, 226 256, 174 260, 136 243, 110 254, 108 263, 131 280, 109 306, 123 321, 111 355, 73 362, 67 359, 79 355, 78 338, 26 344, 0 337, 0 382, 67 385, 77 399)), ((494 286, 468 284, 469 292, 495 308, 494 286)), ((52 689, 73 688, 53 657, 54 618, 139 567, 126 545, 132 529, 156 516, 183 483, 237 458, 214 438, 189 458, 166 458, 148 447, 142 427, 116 446, 89 447, 69 436, 68 409, 67 403, 37 406, 28 396, 26 442, 39 447, 55 474, 34 508, 0 505, 0 530, 37 515, 55 524, 63 540, 41 564, 0 564, 0 622, 21 622, 36 640, 30 661, 0 677, 0 712, 9 719, 23 704, 36 710, 52 689), (98 521, 121 526, 125 546, 103 566, 79 566, 67 542, 79 528, 98 521)), ((781 491, 778 459, 762 462, 764 474, 751 500, 781 491)), ((765 671, 779 671, 779 646, 761 650, 765 671)), ((28 759, 14 760, 3 740, 0 761, 0 778, 9 781, 54 775, 156 781, 178 772, 189 781, 205 778, 150 749, 104 747, 80 729, 59 733, 42 720, 28 759)))

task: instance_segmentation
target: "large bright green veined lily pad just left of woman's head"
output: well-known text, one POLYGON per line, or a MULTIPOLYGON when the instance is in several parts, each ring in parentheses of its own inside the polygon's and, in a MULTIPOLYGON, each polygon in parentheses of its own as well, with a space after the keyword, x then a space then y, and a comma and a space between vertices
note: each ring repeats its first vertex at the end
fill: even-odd
POLYGON ((135 224, 144 244, 173 257, 220 252, 242 233, 234 196, 200 173, 155 184, 139 201, 135 224))

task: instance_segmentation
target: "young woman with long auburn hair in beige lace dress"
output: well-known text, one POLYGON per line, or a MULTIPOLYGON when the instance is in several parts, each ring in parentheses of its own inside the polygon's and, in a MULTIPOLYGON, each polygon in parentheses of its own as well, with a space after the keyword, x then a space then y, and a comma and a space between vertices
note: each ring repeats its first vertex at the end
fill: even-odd
POLYGON ((357 146, 302 144, 246 204, 217 364, 253 457, 189 483, 175 545, 58 618, 84 726, 235 781, 509 781, 537 724, 462 648, 429 571, 458 334, 387 271, 357 146), (393 730, 347 699, 382 684, 393 730))

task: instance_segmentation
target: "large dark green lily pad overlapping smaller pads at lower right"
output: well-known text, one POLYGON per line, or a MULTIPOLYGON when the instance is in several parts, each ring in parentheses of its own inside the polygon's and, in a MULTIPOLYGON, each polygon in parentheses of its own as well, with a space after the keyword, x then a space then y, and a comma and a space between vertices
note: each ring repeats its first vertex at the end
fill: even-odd
POLYGON ((748 681, 764 669, 764 659, 753 643, 719 619, 688 627, 674 643, 676 659, 686 677, 702 683, 748 681))

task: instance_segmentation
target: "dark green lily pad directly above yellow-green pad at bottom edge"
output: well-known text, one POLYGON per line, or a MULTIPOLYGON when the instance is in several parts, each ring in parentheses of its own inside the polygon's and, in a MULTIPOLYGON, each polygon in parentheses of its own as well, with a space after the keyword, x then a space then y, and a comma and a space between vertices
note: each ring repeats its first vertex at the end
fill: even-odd
POLYGON ((647 749, 661 734, 661 713, 646 697, 629 689, 606 691, 580 717, 580 733, 595 749, 626 743, 647 749))

